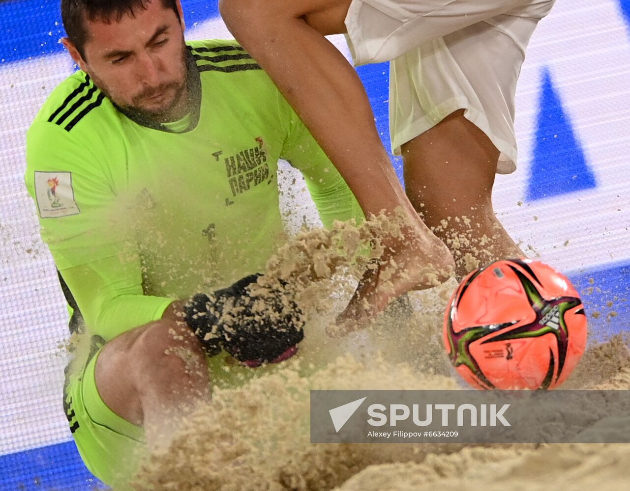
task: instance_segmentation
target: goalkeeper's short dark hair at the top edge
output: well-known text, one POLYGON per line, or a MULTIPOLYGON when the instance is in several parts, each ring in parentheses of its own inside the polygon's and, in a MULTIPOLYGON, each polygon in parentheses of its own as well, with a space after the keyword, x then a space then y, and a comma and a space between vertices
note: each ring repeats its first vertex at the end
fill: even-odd
MULTIPOLYGON (((86 19, 105 23, 118 22, 125 14, 134 15, 137 9, 146 9, 150 0, 61 0, 61 20, 68 39, 72 41, 81 56, 88 40, 86 19)), ((155 0, 154 0, 155 1, 155 0)), ((160 0, 164 8, 173 9, 177 18, 176 0, 160 0)), ((84 57, 85 58, 85 57, 84 57)))

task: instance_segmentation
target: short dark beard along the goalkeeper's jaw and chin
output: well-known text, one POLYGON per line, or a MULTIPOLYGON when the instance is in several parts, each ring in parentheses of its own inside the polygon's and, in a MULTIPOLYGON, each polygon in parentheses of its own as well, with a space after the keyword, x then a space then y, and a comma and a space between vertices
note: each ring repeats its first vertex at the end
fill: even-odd
POLYGON ((181 72, 178 80, 164 82, 156 87, 148 87, 125 102, 128 98, 118 97, 111 87, 96 74, 90 74, 96 87, 105 94, 120 110, 134 119, 151 121, 152 123, 168 123, 177 121, 188 113, 188 69, 186 64, 186 46, 183 45, 180 57, 181 72), (151 97, 173 92, 172 97, 161 103, 151 104, 151 97))

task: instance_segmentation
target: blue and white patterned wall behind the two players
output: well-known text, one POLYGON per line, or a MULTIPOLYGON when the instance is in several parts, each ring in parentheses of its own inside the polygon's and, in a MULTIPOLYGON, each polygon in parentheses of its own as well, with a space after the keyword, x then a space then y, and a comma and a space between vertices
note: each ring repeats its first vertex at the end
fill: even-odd
MULTIPOLYGON (((189 39, 231 37, 216 1, 182 4, 189 39)), ((0 490, 98 487, 61 408, 67 312, 23 184, 26 128, 73 70, 59 0, 0 1, 0 26, 0 490)), ((387 143, 387 64, 358 72, 387 143)), ((592 339, 627 332, 630 0, 557 1, 530 42, 516 131, 518 170, 497 177, 496 212, 599 312, 592 339)))

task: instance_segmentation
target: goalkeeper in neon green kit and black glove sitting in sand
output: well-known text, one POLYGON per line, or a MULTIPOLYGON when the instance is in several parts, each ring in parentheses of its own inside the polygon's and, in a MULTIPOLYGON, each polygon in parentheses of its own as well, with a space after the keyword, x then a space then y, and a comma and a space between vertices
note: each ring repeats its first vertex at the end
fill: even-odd
POLYGON ((136 450, 168 435, 229 360, 297 350, 299 310, 275 291, 262 312, 249 301, 283 234, 278 159, 302 172, 325 225, 363 214, 243 48, 185 43, 178 0, 61 8, 81 70, 28 130, 25 179, 71 326, 83 316, 93 340, 66 383, 70 428, 89 470, 121 488, 136 450))

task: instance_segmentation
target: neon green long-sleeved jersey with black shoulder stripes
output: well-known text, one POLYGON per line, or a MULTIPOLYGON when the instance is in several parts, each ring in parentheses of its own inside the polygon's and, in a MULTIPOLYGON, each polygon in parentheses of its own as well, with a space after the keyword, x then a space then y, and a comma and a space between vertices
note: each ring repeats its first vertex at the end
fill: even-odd
POLYGON ((42 238, 89 331, 106 340, 263 268, 284 231, 279 158, 304 174, 324 225, 363 217, 243 48, 188 47, 197 98, 179 127, 131 119, 79 71, 28 130, 26 187, 42 238))

